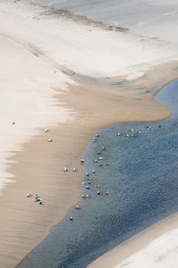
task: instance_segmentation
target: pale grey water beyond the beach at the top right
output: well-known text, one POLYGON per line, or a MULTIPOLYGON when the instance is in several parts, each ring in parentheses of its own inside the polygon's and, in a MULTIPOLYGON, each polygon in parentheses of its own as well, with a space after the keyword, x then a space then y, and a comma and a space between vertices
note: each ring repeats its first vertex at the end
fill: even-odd
POLYGON ((93 21, 126 27, 132 32, 178 42, 177 0, 31 0, 85 15, 93 21))

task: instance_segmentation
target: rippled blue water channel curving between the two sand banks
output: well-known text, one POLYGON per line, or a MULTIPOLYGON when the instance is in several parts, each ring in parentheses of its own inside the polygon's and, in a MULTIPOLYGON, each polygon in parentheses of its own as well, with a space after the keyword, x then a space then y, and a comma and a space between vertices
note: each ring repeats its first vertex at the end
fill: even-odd
POLYGON ((91 142, 84 154, 85 172, 95 171, 90 175, 91 184, 87 176, 84 179, 84 192, 89 197, 81 199, 81 209, 72 209, 20 268, 83 268, 178 211, 178 81, 156 98, 170 107, 174 116, 150 123, 149 130, 146 123, 118 124, 101 130, 97 142, 91 142), (99 163, 94 163, 95 159, 99 163), (101 195, 96 194, 98 190, 101 195), (70 216, 73 221, 69 221, 70 216))

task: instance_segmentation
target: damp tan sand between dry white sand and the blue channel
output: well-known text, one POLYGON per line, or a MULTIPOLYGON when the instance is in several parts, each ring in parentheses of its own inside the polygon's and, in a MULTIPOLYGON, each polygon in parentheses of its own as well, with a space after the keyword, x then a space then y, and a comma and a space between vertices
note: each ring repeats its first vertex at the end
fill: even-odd
POLYGON ((162 120, 172 114, 154 100, 153 94, 176 79, 177 66, 176 62, 163 64, 132 82, 123 78, 127 86, 121 87, 121 93, 113 89, 110 94, 105 89, 103 94, 100 88, 81 85, 70 87, 69 92, 62 95, 63 102, 77 113, 76 120, 62 123, 49 134, 41 130, 41 135, 32 138, 10 159, 15 163, 10 165, 8 172, 15 174, 15 182, 8 185, 0 197, 3 219, 0 223, 0 261, 3 267, 20 263, 51 227, 77 204, 84 177, 79 160, 97 130, 118 122, 162 120), (159 77, 162 85, 153 76, 157 80, 159 77), (135 94, 135 86, 143 84, 145 87, 135 94), (146 96, 145 90, 149 88, 152 92, 146 96), (130 93, 124 96, 124 89, 130 93), (52 143, 47 142, 48 136, 53 137, 52 143), (69 172, 63 172, 64 166, 69 172), (73 167, 79 168, 79 172, 72 172, 73 167), (40 194, 45 204, 38 205, 33 197, 27 198, 28 192, 40 194))

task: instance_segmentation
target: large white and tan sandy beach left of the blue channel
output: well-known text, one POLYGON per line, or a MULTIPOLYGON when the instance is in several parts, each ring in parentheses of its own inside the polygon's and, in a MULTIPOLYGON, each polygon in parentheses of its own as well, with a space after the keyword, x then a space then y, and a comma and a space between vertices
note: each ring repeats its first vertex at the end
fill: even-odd
POLYGON ((77 204, 80 158, 96 131, 172 115, 154 95, 177 79, 175 44, 52 11, 0 3, 2 267, 19 264, 77 204))

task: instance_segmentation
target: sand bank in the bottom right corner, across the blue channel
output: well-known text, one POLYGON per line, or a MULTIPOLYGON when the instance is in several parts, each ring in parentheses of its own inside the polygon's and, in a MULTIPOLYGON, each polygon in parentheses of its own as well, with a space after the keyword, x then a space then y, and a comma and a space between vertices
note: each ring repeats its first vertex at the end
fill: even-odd
POLYGON ((176 268, 178 214, 152 225, 102 255, 89 268, 176 268))

